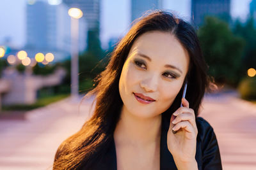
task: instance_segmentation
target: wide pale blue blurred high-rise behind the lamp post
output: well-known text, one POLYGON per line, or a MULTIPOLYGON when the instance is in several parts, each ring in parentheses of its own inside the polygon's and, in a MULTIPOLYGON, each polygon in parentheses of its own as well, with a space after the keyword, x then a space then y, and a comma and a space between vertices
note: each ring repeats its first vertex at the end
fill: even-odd
MULTIPOLYGON (((28 1, 29 2, 29 1, 28 1)), ((26 5, 26 51, 29 57, 36 53, 54 54, 54 61, 70 55, 70 17, 67 5, 53 1, 35 1, 26 5)), ((79 20, 79 51, 86 48, 86 21, 79 20)))

